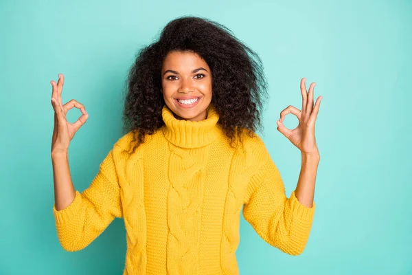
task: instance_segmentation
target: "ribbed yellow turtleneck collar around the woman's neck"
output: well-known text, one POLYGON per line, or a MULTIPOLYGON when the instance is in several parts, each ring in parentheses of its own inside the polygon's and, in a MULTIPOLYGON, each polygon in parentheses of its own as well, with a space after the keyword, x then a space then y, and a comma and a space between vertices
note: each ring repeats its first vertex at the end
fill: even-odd
POLYGON ((220 134, 219 115, 213 104, 209 104, 206 110, 205 120, 178 120, 169 107, 163 105, 161 115, 165 122, 163 134, 166 139, 182 148, 198 148, 216 140, 220 134))

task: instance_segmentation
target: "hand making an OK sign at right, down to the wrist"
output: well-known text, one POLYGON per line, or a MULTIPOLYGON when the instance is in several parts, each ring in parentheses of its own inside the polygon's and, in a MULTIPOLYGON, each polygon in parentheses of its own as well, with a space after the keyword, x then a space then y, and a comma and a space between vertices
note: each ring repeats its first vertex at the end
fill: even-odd
POLYGON ((280 119, 277 120, 277 130, 297 146, 301 153, 309 155, 319 155, 316 140, 314 138, 314 122, 316 121, 319 106, 323 96, 317 98, 313 106, 313 89, 316 83, 310 84, 309 93, 306 91, 306 78, 301 79, 302 110, 289 105, 280 112, 280 119), (288 113, 297 116, 299 124, 293 130, 287 129, 283 121, 288 113))

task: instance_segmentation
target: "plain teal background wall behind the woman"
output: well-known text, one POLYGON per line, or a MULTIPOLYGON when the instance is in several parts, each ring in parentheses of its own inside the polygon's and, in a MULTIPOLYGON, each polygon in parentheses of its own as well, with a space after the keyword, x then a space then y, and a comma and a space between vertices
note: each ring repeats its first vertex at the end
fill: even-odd
MULTIPOLYGON (((226 25, 262 57, 271 95, 262 137, 288 196, 300 152, 275 120, 289 104, 301 109, 301 78, 323 96, 306 249, 284 254, 242 217, 240 274, 412 274, 412 2, 399 0, 1 1, 0 274, 122 274, 122 219, 79 252, 58 243, 50 81, 65 74, 63 102, 75 98, 89 113, 69 148, 82 191, 122 135, 135 54, 182 15, 226 25)), ((74 110, 70 122, 80 116, 74 110)), ((285 124, 294 128, 297 119, 288 115, 285 124)))

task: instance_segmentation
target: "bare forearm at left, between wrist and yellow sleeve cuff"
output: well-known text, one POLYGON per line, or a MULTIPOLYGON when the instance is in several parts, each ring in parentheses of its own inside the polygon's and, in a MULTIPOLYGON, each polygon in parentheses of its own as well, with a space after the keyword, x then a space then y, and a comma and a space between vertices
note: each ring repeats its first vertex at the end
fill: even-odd
POLYGON ((71 181, 69 159, 66 152, 53 152, 54 201, 56 210, 69 206, 76 197, 76 190, 71 181))

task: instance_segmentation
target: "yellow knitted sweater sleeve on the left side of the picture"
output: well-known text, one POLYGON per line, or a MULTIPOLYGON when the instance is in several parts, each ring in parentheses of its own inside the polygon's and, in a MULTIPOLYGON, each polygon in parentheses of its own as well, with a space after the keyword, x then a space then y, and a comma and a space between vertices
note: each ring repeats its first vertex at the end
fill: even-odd
POLYGON ((76 190, 73 202, 62 210, 53 206, 58 239, 73 252, 86 248, 115 219, 123 217, 120 186, 115 168, 115 145, 100 164, 89 188, 76 190))

